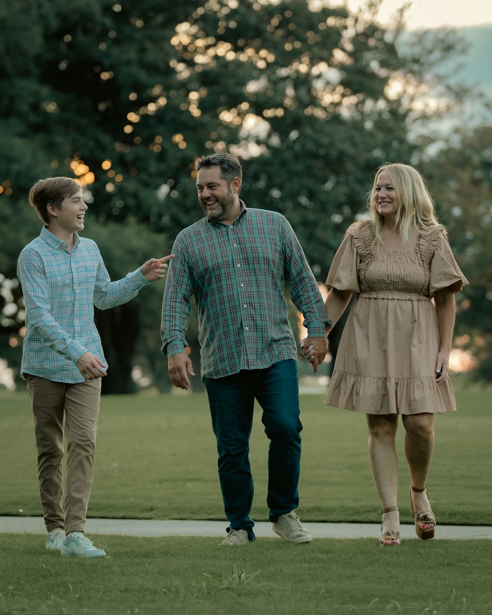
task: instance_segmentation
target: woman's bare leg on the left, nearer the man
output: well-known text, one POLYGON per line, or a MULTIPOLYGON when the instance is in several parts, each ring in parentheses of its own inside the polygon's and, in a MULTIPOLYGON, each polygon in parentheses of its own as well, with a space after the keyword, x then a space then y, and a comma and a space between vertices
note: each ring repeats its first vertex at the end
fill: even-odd
MULTIPOLYGON (((366 415, 369 428, 369 465, 373 481, 384 508, 396 506, 398 491, 398 456, 395 437, 397 415, 366 415)), ((383 531, 399 530, 397 510, 383 514, 383 531)))

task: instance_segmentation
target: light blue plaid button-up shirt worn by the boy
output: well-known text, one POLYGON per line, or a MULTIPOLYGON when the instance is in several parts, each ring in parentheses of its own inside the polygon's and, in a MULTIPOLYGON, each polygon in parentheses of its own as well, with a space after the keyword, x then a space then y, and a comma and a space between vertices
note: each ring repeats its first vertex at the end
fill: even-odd
POLYGON ((20 253, 17 277, 26 308, 21 377, 32 374, 62 383, 82 383, 75 367, 84 352, 107 362, 94 324, 94 307, 127 303, 149 284, 140 269, 111 282, 97 245, 74 233, 71 252, 43 227, 20 253))

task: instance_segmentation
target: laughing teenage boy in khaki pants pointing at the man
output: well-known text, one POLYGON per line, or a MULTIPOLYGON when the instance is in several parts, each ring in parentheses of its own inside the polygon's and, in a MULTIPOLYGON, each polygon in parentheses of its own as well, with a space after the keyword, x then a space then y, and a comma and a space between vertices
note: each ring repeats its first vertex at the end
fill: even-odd
POLYGON ((46 548, 62 555, 104 557, 104 550, 84 535, 101 378, 108 369, 93 306, 108 309, 127 303, 140 288, 164 277, 172 255, 151 258, 111 282, 97 245, 77 234, 87 210, 81 186, 68 177, 39 180, 29 200, 44 227, 17 262, 26 309, 21 377, 33 406, 46 548))

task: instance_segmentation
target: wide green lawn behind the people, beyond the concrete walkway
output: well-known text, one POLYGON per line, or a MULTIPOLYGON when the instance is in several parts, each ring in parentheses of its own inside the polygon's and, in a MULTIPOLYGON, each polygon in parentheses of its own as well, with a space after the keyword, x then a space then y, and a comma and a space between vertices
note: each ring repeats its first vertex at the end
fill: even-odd
MULTIPOLYGON (((490 389, 456 387, 459 411, 436 416, 429 494, 438 523, 491 525, 490 389)), ((0 514, 41 515, 30 402, 0 392, 0 514)), ((367 461, 365 417, 301 397, 301 519, 379 522, 380 504, 367 461)), ((400 454, 399 507, 408 512, 410 478, 400 454)), ((257 408, 251 438, 252 516, 267 520, 268 440, 257 408)), ((115 395, 101 400, 90 517, 224 519, 215 437, 205 394, 115 395)), ((1 611, 0 611, 1 613, 1 611)))

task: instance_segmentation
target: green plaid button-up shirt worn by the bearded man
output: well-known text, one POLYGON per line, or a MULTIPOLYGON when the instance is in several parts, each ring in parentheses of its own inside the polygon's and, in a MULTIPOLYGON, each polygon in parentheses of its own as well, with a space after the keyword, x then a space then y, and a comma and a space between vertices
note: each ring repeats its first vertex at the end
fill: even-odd
POLYGON ((284 283, 310 336, 325 335, 325 308, 301 245, 280 213, 247 209, 228 226, 202 218, 175 240, 162 305, 162 352, 183 352, 191 295, 202 376, 222 378, 297 359, 284 283))

